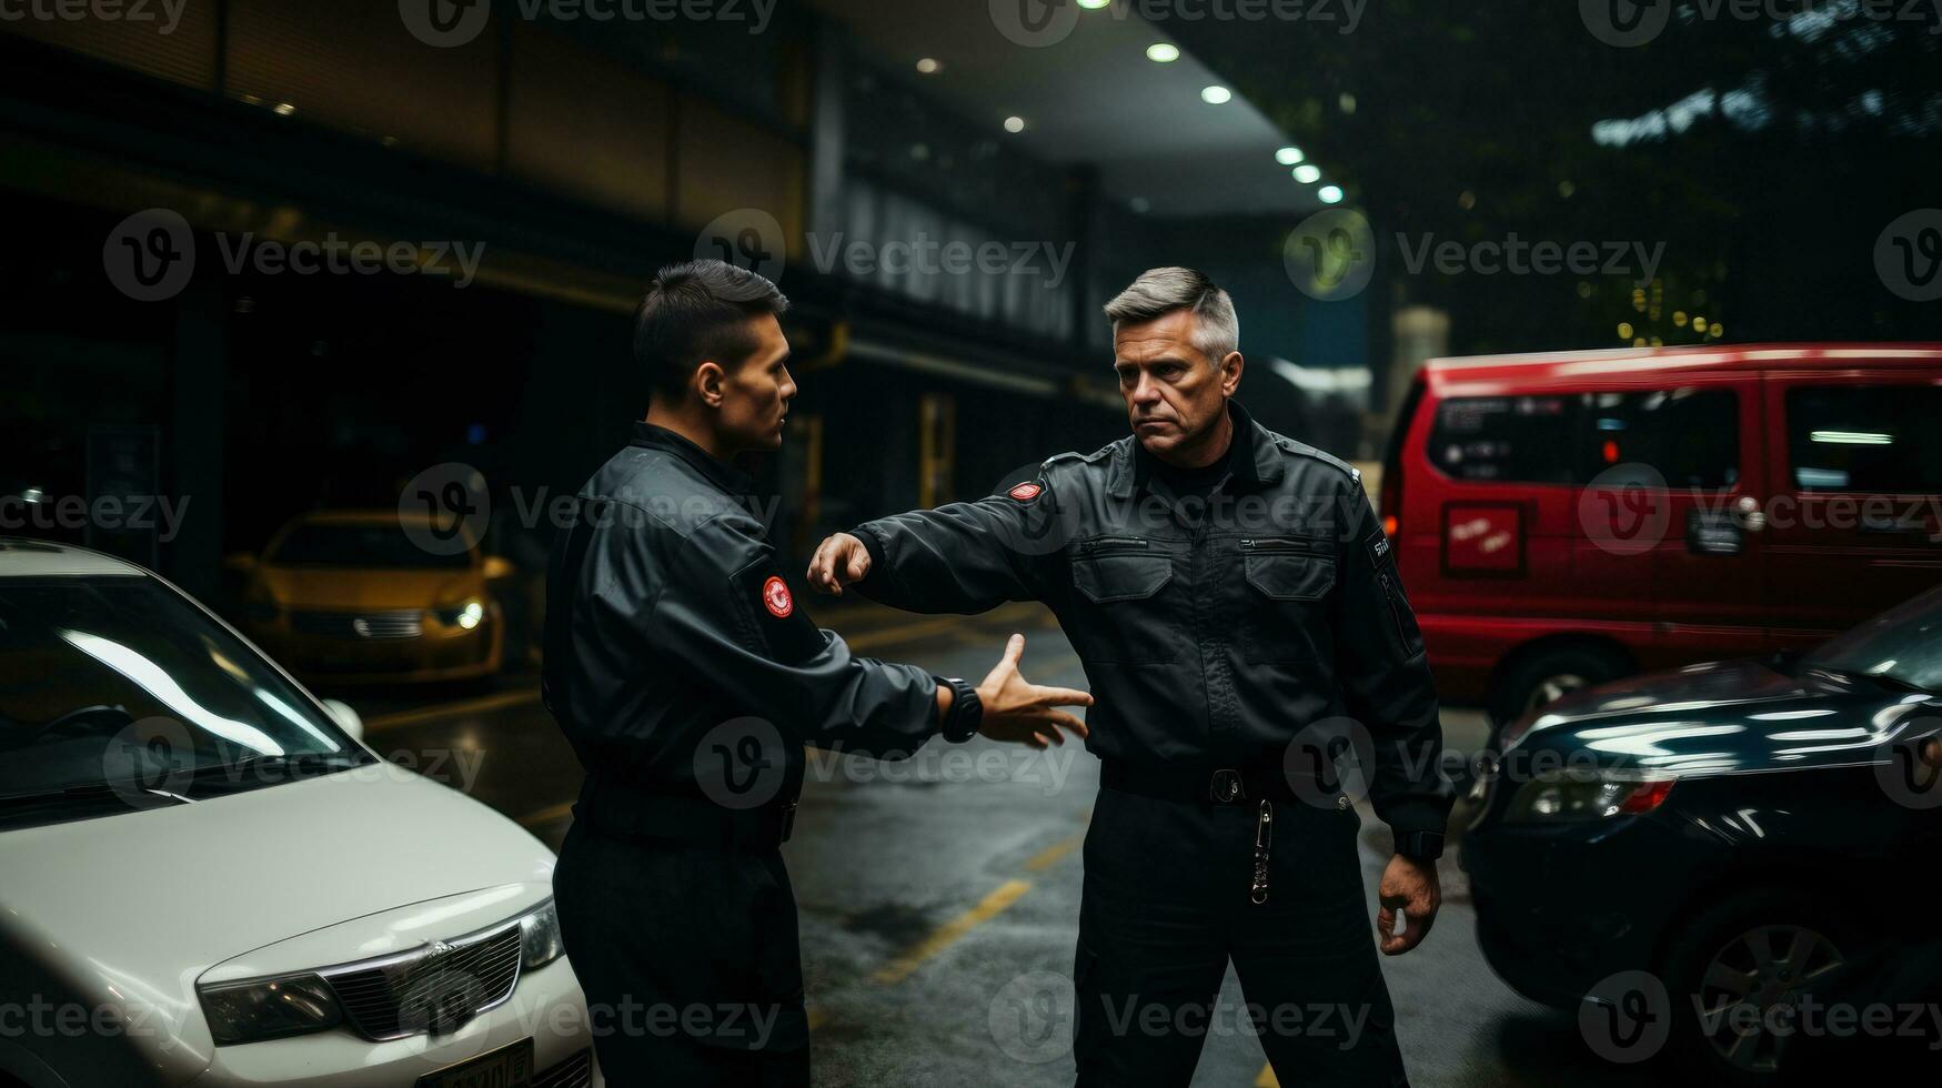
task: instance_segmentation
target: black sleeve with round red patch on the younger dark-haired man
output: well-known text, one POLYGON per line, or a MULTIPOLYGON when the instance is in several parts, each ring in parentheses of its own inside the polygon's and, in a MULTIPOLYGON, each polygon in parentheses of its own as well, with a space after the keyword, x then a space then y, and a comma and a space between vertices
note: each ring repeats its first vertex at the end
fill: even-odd
POLYGON ((938 731, 936 678, 818 629, 757 527, 717 517, 666 546, 670 575, 635 620, 649 645, 804 744, 905 758, 938 731))

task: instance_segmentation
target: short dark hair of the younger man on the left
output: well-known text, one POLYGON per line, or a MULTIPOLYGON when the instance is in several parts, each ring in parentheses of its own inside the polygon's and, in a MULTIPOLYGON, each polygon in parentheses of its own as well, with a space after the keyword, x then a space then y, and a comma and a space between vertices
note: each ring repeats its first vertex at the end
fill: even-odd
POLYGON ((787 309, 783 291, 748 268, 722 260, 662 268, 633 309, 633 359, 647 371, 649 396, 680 400, 707 359, 740 363, 755 352, 748 319, 787 309))

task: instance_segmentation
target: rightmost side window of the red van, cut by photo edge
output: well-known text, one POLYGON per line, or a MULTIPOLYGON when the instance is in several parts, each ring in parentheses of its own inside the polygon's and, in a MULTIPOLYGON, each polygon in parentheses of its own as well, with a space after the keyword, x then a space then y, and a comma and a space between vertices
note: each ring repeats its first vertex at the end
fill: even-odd
POLYGON ((1787 460, 1802 492, 1942 493, 1942 389, 1827 385, 1787 391, 1787 460))

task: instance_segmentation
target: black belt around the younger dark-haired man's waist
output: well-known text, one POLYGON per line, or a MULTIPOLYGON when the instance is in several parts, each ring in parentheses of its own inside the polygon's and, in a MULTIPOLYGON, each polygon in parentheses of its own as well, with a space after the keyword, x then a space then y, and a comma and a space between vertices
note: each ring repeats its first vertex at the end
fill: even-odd
POLYGON ((728 808, 693 785, 639 785, 588 777, 573 804, 573 820, 618 839, 769 853, 796 828, 796 799, 777 799, 757 808, 728 808))

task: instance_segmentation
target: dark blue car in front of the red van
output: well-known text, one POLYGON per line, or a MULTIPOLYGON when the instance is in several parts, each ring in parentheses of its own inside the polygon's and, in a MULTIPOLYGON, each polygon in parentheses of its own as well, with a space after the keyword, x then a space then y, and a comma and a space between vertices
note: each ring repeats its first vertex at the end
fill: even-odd
POLYGON ((1773 1082, 1843 1039, 1942 1045, 1923 1004, 1942 985, 1938 734, 1942 587, 1806 655, 1524 715, 1470 789, 1484 954, 1604 1057, 1662 1051, 1715 1082, 1773 1082))

